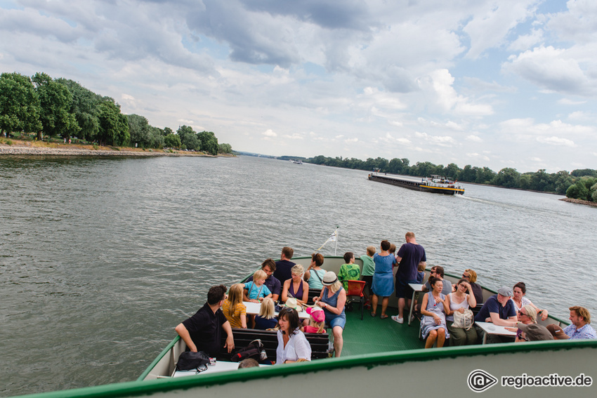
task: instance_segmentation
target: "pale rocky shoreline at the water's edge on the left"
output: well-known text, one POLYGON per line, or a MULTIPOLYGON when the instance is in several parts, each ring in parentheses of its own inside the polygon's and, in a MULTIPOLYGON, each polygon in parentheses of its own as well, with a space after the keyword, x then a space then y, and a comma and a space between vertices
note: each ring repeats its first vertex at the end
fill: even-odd
POLYGON ((0 145, 0 155, 27 155, 27 156, 131 156, 131 157, 148 157, 148 156, 196 156, 196 157, 214 157, 209 154, 197 152, 149 152, 149 150, 113 150, 111 148, 101 147, 98 150, 88 150, 81 147, 29 147, 18 145, 0 145))

